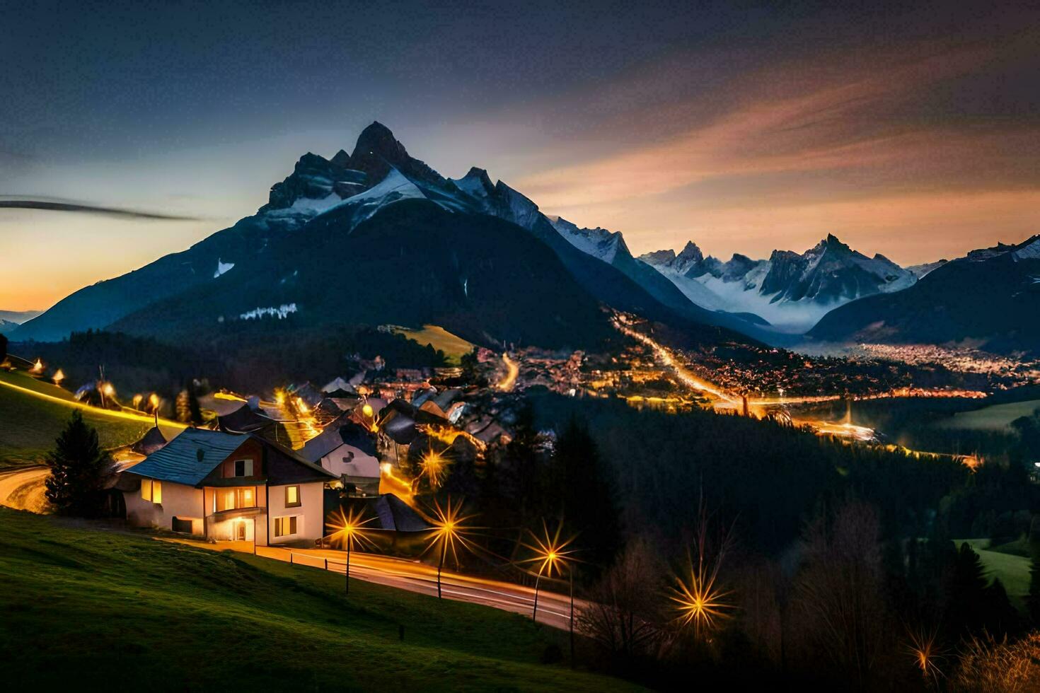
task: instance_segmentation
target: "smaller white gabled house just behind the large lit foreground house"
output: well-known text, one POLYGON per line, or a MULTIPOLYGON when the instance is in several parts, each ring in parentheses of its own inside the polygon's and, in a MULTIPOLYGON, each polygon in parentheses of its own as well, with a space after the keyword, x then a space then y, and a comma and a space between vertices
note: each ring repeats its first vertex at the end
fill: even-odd
POLYGON ((332 422, 321 433, 308 441, 300 450, 300 455, 364 494, 374 496, 380 492, 380 460, 375 454, 375 441, 364 426, 347 416, 332 422))

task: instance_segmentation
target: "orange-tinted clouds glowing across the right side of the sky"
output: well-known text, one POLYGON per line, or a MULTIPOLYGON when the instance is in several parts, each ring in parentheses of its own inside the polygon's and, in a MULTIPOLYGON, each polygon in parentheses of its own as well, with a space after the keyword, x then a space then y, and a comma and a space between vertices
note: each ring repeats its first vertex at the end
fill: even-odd
POLYGON ((970 76, 991 51, 922 51, 744 76, 706 122, 518 187, 548 212, 625 232, 639 251, 693 239, 761 256, 835 233, 922 262, 1035 233, 1040 133, 940 117, 920 96, 970 76))

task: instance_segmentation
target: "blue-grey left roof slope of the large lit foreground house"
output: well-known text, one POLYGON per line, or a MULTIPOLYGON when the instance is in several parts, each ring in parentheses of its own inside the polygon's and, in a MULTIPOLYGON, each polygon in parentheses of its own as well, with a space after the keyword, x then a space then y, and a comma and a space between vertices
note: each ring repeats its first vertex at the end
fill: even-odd
POLYGON ((130 472, 149 479, 194 486, 237 450, 249 435, 186 428, 130 472))

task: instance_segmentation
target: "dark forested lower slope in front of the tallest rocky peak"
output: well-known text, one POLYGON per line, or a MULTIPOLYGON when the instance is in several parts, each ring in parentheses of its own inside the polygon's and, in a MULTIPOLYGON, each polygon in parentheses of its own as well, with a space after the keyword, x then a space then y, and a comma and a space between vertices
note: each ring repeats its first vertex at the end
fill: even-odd
POLYGON ((249 321, 432 323, 483 344, 574 348, 612 337, 599 303, 514 224, 405 198, 355 225, 357 207, 338 207, 218 281, 112 328, 171 340, 249 321), (344 263, 361 271, 341 271, 344 263))

